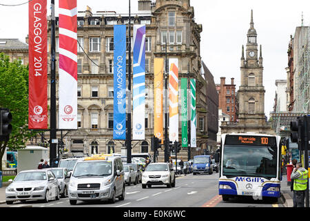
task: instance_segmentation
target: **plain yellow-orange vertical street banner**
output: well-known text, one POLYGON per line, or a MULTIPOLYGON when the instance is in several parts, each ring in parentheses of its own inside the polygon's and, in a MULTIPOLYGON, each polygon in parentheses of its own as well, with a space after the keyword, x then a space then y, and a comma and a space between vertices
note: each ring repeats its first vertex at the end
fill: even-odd
POLYGON ((163 143, 163 58, 154 59, 154 136, 163 143))

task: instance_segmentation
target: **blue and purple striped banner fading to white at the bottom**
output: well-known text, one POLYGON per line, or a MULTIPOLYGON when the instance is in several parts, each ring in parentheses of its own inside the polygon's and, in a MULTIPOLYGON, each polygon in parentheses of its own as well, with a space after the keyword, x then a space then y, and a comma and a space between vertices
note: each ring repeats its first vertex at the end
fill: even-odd
POLYGON ((145 140, 145 25, 134 25, 132 140, 145 140))

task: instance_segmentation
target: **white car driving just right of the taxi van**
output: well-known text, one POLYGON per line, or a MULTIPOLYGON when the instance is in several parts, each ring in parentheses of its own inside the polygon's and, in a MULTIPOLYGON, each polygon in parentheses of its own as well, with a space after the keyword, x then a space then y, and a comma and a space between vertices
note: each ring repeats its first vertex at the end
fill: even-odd
POLYGON ((169 163, 151 163, 147 165, 142 175, 142 188, 152 185, 167 185, 168 188, 176 186, 174 168, 169 163))

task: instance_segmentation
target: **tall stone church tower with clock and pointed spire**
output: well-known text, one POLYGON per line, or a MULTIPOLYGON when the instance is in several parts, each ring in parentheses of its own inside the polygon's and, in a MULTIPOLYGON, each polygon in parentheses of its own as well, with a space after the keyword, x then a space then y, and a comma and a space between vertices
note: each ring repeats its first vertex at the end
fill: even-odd
POLYGON ((262 84, 262 46, 258 50, 257 32, 254 28, 253 10, 247 32, 247 45, 242 46, 241 84, 238 90, 240 124, 265 124, 265 88, 262 84))

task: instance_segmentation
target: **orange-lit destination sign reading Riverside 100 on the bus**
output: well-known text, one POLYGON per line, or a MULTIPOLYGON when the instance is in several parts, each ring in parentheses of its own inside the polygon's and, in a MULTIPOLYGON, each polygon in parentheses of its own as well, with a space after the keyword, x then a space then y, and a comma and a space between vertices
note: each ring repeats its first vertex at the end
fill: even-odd
POLYGON ((253 146, 276 146, 276 137, 227 135, 225 144, 228 145, 253 145, 253 146))

